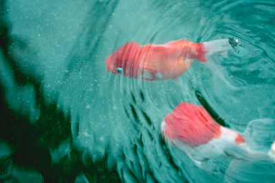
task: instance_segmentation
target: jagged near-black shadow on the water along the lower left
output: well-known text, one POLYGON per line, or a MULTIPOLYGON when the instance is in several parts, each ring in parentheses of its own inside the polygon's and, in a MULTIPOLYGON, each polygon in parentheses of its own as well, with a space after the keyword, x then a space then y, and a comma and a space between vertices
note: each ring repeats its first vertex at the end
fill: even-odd
MULTIPOLYGON (((90 182, 120 182, 118 173, 109 170, 104 159, 83 164, 82 152, 72 144, 70 115, 65 116, 64 112, 57 108, 56 102, 45 102, 41 78, 21 71, 17 58, 10 54, 10 46, 14 41, 22 44, 24 42, 10 35, 12 26, 5 20, 5 14, 5 1, 0 1, 0 51, 3 54, 3 62, 12 68, 17 86, 34 86, 36 108, 40 109, 41 114, 39 119, 32 123, 28 115, 10 108, 4 97, 5 86, 0 83, 0 140, 8 143, 13 149, 7 160, 0 161, 1 172, 7 171, 5 168, 8 167, 2 163, 9 162, 8 164, 25 170, 39 171, 44 182, 74 182, 79 173, 85 173, 90 182), (69 153, 58 162, 52 162, 50 149, 58 148, 67 139, 71 142, 69 153)), ((7 178, 10 178, 10 175, 0 177, 0 182, 7 178)))

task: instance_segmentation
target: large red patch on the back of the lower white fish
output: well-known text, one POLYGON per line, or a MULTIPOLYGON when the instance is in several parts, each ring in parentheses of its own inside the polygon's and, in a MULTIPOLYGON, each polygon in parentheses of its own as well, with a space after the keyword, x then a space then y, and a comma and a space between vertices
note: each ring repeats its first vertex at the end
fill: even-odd
POLYGON ((221 136, 221 125, 203 107, 192 103, 180 103, 164 120, 164 135, 190 147, 207 144, 221 136))

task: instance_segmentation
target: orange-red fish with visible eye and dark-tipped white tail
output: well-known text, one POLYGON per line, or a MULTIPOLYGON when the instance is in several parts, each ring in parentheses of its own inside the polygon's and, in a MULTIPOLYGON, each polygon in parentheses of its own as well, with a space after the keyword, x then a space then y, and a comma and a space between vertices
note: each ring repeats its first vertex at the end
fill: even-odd
POLYGON ((206 56, 212 53, 227 55, 236 47, 236 39, 220 39, 209 42, 174 40, 165 44, 139 45, 128 42, 118 48, 106 60, 107 71, 135 77, 141 80, 177 80, 192 65, 193 60, 206 64, 206 56))

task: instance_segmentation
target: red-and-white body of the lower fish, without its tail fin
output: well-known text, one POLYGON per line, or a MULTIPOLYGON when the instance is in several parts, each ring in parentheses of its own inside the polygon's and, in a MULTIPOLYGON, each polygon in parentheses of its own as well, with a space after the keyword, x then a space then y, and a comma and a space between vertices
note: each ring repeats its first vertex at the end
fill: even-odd
POLYGON ((192 103, 180 103, 161 126, 166 140, 197 160, 219 156, 225 148, 245 143, 241 134, 219 125, 202 106, 192 103))

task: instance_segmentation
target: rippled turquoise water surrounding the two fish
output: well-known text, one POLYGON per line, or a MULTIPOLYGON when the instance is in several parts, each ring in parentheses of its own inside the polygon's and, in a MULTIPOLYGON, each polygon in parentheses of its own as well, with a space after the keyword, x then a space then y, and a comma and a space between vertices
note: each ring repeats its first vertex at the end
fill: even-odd
POLYGON ((223 158, 201 169, 160 132, 182 101, 239 132, 275 118, 273 1, 10 0, 0 8, 1 181, 275 180, 266 161, 223 158), (228 83, 197 61, 177 81, 106 71, 126 42, 179 38, 238 38, 239 53, 212 57, 228 83))

